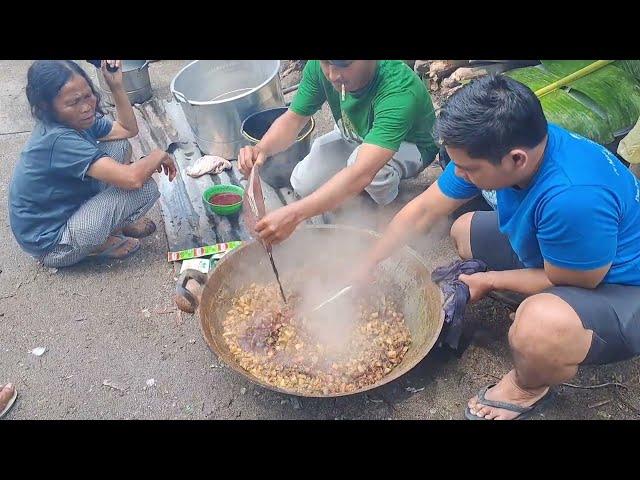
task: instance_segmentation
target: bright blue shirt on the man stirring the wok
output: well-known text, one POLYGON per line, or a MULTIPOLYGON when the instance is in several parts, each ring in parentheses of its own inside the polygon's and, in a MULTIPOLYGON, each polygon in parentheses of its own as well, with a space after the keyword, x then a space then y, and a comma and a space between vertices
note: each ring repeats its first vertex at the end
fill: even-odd
MULTIPOLYGON (((603 146, 556 125, 527 188, 497 191, 500 231, 528 268, 543 261, 569 270, 611 263, 603 283, 640 285, 640 185, 603 146)), ((455 199, 480 190, 449 163, 438 179, 455 199)))

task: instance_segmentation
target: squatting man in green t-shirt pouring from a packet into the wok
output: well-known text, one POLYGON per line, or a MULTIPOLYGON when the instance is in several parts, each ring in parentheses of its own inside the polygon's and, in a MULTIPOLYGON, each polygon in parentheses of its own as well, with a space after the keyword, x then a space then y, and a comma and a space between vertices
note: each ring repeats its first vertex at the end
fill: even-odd
POLYGON ((418 76, 400 60, 310 60, 289 110, 255 146, 241 149, 240 171, 286 150, 324 102, 334 131, 316 139, 293 170, 291 185, 302 200, 279 208, 256 226, 278 243, 296 226, 334 210, 365 190, 379 205, 398 195, 400 179, 416 176, 436 154, 433 104, 418 76))

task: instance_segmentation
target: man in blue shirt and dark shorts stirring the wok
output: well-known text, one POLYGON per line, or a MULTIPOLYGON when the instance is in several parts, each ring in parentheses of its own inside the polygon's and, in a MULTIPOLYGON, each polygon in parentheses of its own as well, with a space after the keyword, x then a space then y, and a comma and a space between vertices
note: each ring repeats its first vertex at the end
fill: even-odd
POLYGON ((451 228, 460 256, 489 267, 459 278, 472 302, 494 290, 527 298, 509 329, 514 368, 469 400, 466 417, 524 418, 579 365, 640 354, 638 179, 604 147, 548 125, 533 92, 505 76, 452 96, 437 134, 452 161, 396 215, 358 276, 481 189, 497 191, 497 211, 451 228))

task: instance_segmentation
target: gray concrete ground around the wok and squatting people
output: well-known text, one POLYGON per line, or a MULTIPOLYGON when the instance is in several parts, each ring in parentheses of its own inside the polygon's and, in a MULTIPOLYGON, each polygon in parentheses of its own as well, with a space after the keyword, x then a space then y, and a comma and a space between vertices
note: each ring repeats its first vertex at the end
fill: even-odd
MULTIPOLYGON (((256 386, 220 364, 195 316, 174 311, 175 277, 158 206, 151 211, 158 232, 130 259, 57 271, 38 266, 18 248, 7 214, 13 167, 33 124, 24 94, 30 63, 0 61, 0 383, 13 382, 19 391, 7 418, 460 419, 467 399, 509 370, 508 312, 485 300, 470 309, 482 328, 461 358, 434 350, 405 376, 367 394, 310 400, 256 386), (29 353, 36 347, 46 352, 29 353)), ((156 95, 168 98, 184 64, 152 64, 156 95)), ((284 86, 297 78, 291 74, 284 86)), ((326 109, 317 119, 316 135, 331 128, 326 109)), ((407 182, 407 191, 421 191, 438 173, 425 170, 407 182)), ((442 235, 416 248, 432 266, 454 258, 442 235)), ((559 387, 544 418, 638 418, 639 367, 632 360, 582 369, 573 384, 624 387, 559 387)))

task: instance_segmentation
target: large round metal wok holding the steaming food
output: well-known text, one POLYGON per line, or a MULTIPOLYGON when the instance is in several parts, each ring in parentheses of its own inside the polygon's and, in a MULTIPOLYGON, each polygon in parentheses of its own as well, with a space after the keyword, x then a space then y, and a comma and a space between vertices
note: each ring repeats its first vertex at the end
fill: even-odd
MULTIPOLYGON (((308 271, 329 272, 335 278, 346 281, 349 270, 354 268, 358 258, 378 237, 373 232, 347 226, 299 228, 287 241, 273 248, 285 293, 289 295, 291 292, 291 275, 302 267, 308 271)), ((407 373, 429 353, 442 329, 442 292, 431 281, 427 266, 415 251, 408 247, 400 249, 383 262, 380 269, 385 281, 392 285, 388 296, 400 306, 411 331, 409 351, 402 363, 377 383, 349 393, 328 395, 311 395, 283 389, 256 378, 237 364, 222 337, 222 321, 231 308, 231 299, 236 291, 251 283, 275 281, 268 257, 260 243, 252 241, 232 250, 208 276, 187 270, 179 283, 185 285, 189 278, 204 283, 201 297, 194 299, 199 301, 202 334, 211 350, 233 370, 270 390, 297 396, 337 397, 371 390, 407 373)))

